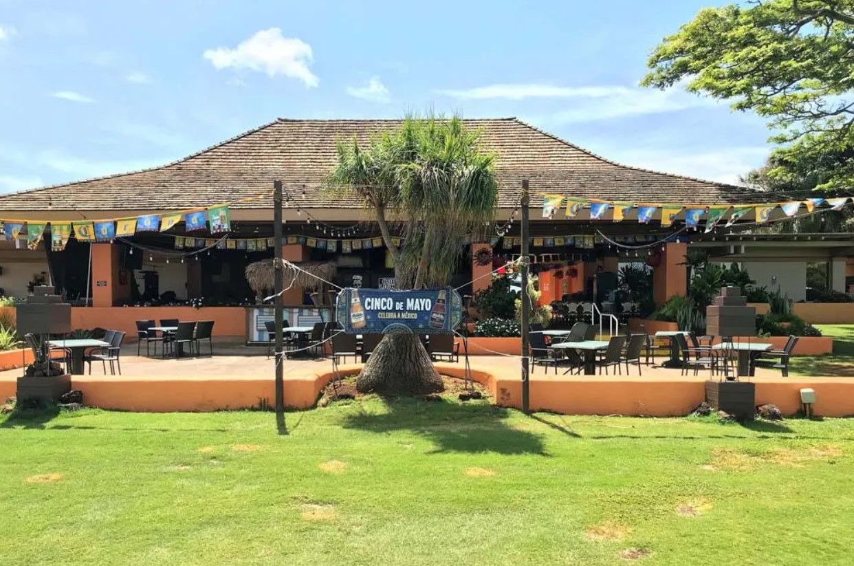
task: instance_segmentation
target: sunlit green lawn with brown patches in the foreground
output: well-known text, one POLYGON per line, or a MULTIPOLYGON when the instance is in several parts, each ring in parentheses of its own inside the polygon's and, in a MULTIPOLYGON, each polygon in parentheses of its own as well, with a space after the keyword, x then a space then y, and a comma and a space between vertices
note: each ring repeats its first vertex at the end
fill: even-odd
POLYGON ((0 417, 0 562, 851 563, 854 420, 477 403, 0 417))

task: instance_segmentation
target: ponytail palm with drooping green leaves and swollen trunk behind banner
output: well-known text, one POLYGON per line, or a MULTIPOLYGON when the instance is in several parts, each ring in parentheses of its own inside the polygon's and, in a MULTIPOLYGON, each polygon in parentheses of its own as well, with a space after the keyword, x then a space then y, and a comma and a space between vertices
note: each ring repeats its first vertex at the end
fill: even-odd
MULTIPOLYGON (((360 195, 371 208, 395 263, 399 289, 447 285, 465 236, 477 237, 498 200, 494 155, 459 117, 407 117, 399 128, 338 143, 327 182, 360 195), (390 225, 403 236, 395 245, 390 225)), ((371 353, 356 388, 381 394, 442 391, 442 379, 418 336, 389 334, 371 353)))

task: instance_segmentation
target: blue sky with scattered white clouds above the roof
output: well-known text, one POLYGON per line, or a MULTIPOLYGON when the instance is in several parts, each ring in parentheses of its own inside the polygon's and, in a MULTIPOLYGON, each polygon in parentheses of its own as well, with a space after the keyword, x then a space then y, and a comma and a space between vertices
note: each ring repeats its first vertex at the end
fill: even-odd
POLYGON ((161 165, 277 117, 426 108, 732 182, 768 154, 763 120, 638 86, 709 3, 0 0, 0 191, 161 165))

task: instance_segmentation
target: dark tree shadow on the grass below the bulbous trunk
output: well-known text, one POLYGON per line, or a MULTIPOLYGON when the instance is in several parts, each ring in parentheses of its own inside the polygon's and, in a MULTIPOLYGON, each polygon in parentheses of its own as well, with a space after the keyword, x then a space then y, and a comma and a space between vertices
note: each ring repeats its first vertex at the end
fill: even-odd
POLYGON ((354 404, 356 412, 343 417, 342 426, 377 434, 411 430, 436 445, 430 453, 548 455, 542 436, 513 428, 506 422, 509 411, 503 407, 411 398, 384 400, 384 405, 385 412, 375 413, 363 404, 354 404))

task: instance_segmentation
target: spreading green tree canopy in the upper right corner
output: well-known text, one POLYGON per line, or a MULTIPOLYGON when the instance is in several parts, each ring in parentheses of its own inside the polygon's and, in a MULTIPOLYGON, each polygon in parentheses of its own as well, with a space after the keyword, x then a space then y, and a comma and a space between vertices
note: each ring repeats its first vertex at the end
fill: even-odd
POLYGON ((768 117, 765 172, 819 189, 854 180, 854 0, 753 0, 703 9, 664 38, 643 85, 686 85, 768 117))

